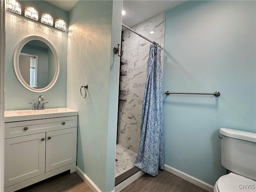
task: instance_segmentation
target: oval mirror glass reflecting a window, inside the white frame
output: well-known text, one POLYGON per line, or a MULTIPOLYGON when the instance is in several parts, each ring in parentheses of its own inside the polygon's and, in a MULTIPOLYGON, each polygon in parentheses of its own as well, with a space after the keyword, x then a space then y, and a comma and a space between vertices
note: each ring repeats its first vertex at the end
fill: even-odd
POLYGON ((19 69, 22 78, 33 88, 44 88, 55 74, 52 50, 40 40, 27 42, 20 52, 19 69))

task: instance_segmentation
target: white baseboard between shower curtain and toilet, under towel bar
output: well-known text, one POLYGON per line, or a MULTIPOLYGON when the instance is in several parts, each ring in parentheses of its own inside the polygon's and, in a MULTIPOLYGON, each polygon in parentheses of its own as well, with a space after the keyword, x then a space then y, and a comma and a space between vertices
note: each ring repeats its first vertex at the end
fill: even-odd
POLYGON ((196 186, 198 187, 201 187, 203 188, 204 190, 206 191, 209 191, 209 192, 213 192, 213 186, 202 181, 202 180, 199 180, 198 178, 195 178, 189 174, 186 174, 178 169, 175 169, 171 166, 168 166, 166 164, 164 164, 164 170, 184 179, 184 180, 187 180, 188 182, 192 183, 192 184, 195 184, 196 186))

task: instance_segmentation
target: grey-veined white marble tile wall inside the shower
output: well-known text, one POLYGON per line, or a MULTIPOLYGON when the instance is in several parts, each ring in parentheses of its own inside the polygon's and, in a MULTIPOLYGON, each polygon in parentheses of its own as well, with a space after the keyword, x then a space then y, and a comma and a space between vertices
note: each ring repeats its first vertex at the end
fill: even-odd
MULTIPOLYGON (((164 27, 165 12, 132 29, 164 47, 164 27), (154 31, 154 34, 150 34, 150 31, 154 31)), ((122 59, 127 59, 127 64, 121 65, 120 70, 126 71, 127 75, 120 76, 120 90, 126 90, 126 93, 120 94, 119 97, 118 144, 138 153, 142 102, 151 43, 129 30, 123 32, 122 39, 122 59)))

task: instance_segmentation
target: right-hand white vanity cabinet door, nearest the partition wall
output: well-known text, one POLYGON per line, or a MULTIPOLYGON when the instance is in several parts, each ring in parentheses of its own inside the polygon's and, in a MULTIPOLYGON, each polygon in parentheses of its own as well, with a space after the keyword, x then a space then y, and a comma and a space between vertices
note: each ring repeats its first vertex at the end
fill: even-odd
POLYGON ((46 172, 76 162, 76 139, 76 127, 46 132, 46 172))

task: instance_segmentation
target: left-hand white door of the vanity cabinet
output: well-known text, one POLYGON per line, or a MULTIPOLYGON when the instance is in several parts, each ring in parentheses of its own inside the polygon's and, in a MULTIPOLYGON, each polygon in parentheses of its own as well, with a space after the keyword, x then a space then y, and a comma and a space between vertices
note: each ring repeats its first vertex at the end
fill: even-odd
POLYGON ((4 159, 4 187, 43 174, 45 133, 5 139, 4 159))

